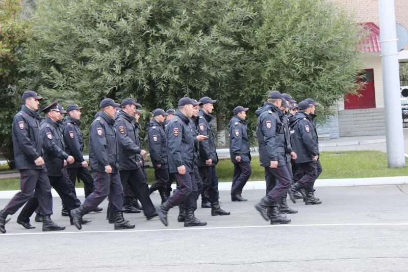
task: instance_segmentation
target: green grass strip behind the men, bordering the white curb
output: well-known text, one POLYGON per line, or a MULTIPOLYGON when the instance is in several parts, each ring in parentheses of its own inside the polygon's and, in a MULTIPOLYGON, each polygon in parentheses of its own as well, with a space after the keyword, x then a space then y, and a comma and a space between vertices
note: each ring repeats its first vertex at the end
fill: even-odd
MULTIPOLYGON (((343 151, 322 152, 320 158, 323 172, 319 179, 349 179, 372 177, 408 176, 408 169, 387 168, 387 154, 378 151, 343 151)), ((406 161, 408 165, 408 161, 406 161)), ((264 167, 259 165, 258 157, 251 162, 252 175, 250 181, 264 180, 264 167)), ((154 169, 147 168, 148 183, 154 181, 154 169)), ((231 181, 234 165, 230 159, 220 160, 217 175, 220 182, 231 181)), ((77 184, 82 187, 83 183, 77 184)), ((0 190, 18 190, 19 179, 0 180, 0 190)))

